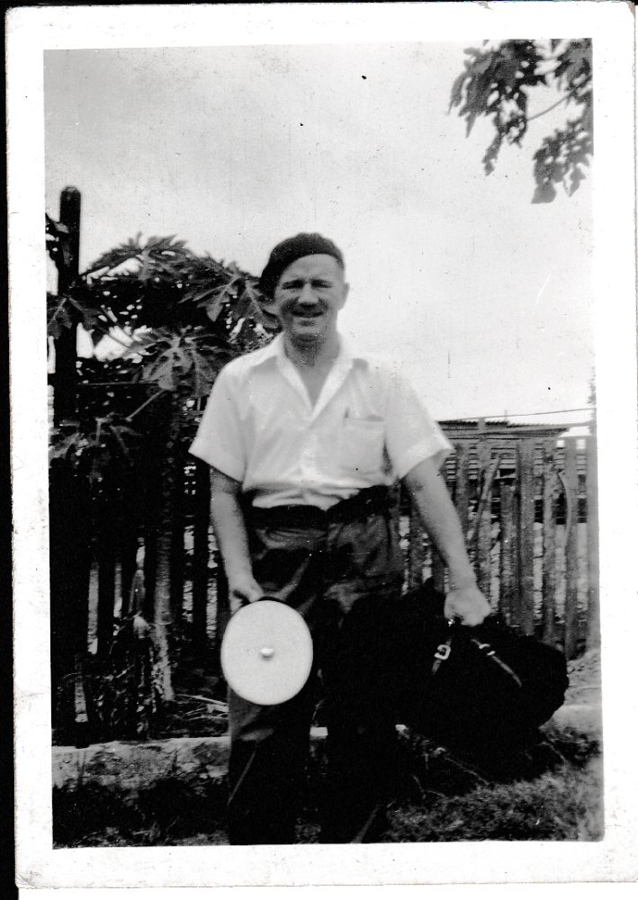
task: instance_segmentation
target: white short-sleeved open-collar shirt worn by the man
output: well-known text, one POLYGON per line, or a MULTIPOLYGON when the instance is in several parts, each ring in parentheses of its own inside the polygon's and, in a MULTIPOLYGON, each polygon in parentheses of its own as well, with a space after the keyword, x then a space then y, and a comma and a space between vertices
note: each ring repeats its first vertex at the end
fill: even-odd
POLYGON ((409 384, 342 338, 312 406, 279 335, 221 370, 190 452, 254 492, 256 506, 328 509, 424 459, 440 466, 451 449, 409 384))

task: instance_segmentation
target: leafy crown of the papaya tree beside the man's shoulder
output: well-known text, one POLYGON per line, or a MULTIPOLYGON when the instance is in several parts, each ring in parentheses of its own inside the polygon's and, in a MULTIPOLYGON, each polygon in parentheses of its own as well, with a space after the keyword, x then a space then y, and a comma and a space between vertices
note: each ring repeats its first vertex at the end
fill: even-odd
POLYGON ((187 410, 208 395, 222 365, 270 339, 261 303, 254 275, 196 256, 175 236, 138 234, 103 253, 63 295, 47 297, 53 338, 81 323, 94 345, 111 344, 80 362, 93 390, 81 420, 52 432, 51 460, 66 459, 95 484, 109 472, 128 478, 130 461, 139 463, 132 423, 143 416, 143 433, 161 431, 167 407, 154 409, 161 397, 185 442, 196 426, 187 410), (113 392, 109 383, 121 387, 113 392))

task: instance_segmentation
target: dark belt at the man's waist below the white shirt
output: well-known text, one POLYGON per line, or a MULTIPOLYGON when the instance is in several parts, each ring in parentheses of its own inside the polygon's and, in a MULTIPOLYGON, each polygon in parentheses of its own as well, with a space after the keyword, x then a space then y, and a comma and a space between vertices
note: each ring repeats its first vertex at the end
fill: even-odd
POLYGON ((327 528, 336 523, 363 521, 368 516, 389 514, 390 491, 382 484, 364 488, 346 500, 339 500, 329 509, 293 503, 270 509, 254 506, 246 509, 250 524, 256 527, 327 528))

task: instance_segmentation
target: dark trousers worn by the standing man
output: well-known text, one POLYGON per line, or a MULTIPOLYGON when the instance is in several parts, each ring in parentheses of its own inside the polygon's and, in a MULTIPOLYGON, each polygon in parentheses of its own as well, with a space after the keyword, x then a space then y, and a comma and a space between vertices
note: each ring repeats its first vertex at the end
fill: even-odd
POLYGON ((387 515, 318 521, 249 520, 256 581, 310 626, 314 671, 287 703, 259 707, 229 695, 229 840, 292 843, 320 672, 328 726, 321 842, 374 839, 396 749, 388 688, 389 605, 403 562, 387 515))

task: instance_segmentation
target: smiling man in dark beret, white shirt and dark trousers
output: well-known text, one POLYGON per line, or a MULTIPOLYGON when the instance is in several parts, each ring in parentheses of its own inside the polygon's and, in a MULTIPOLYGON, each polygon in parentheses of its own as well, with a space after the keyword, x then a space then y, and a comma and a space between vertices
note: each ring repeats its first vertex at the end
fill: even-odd
MULTIPOLYGON (((438 470, 451 445, 412 390, 337 331, 341 251, 299 234, 261 276, 282 334, 220 373, 191 452, 212 467, 211 515, 231 609, 264 596, 298 609, 325 692, 322 842, 378 837, 394 751, 384 635, 403 563, 388 510, 396 477, 450 572, 445 613, 489 613, 438 470)), ((229 696, 229 840, 292 843, 316 695, 277 707, 229 696)))

